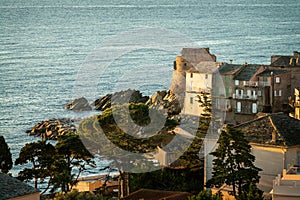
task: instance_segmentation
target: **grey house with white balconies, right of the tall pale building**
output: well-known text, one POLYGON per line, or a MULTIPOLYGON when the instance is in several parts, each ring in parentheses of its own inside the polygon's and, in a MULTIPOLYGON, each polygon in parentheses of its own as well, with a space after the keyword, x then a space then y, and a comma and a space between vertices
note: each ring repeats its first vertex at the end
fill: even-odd
MULTIPOLYGON (((224 63, 219 73, 225 88, 226 123, 237 124, 255 118, 258 110, 257 74, 263 71, 261 65, 224 63)), ((261 94, 260 94, 261 95, 261 94)), ((224 97, 216 96, 221 100, 224 97)))

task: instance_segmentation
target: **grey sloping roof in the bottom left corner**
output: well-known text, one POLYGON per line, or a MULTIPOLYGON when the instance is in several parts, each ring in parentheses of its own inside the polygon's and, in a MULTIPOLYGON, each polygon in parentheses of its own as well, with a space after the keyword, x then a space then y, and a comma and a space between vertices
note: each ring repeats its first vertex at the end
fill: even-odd
POLYGON ((27 185, 26 183, 0 173, 0 200, 20 197, 23 195, 37 193, 39 190, 27 185))

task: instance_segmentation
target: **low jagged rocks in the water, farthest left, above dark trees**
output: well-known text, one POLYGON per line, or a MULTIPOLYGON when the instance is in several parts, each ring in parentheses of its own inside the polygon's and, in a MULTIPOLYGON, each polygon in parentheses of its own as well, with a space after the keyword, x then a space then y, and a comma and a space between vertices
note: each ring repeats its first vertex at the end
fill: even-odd
POLYGON ((68 118, 48 119, 37 123, 26 133, 31 136, 41 137, 42 139, 55 140, 57 136, 74 133, 76 126, 74 120, 68 118))

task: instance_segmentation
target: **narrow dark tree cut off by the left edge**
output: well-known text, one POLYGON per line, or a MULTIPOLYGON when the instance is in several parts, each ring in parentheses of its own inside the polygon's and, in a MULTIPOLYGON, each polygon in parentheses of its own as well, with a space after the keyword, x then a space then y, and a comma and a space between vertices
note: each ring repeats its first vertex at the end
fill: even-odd
POLYGON ((2 173, 7 174, 12 168, 13 162, 11 158, 10 148, 8 147, 5 139, 0 135, 0 170, 2 173))

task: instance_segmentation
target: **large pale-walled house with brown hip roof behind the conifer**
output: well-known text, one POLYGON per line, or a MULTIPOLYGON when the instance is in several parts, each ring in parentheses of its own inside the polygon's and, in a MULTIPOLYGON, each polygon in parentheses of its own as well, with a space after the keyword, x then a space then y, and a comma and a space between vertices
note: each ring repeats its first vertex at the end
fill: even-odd
POLYGON ((273 179, 290 163, 300 165, 300 121, 286 114, 265 114, 235 126, 249 140, 255 165, 262 169, 259 187, 270 192, 273 179))

